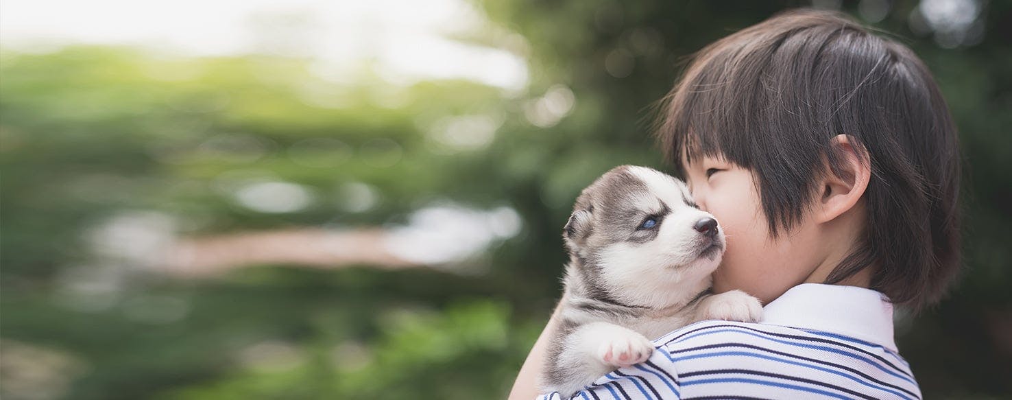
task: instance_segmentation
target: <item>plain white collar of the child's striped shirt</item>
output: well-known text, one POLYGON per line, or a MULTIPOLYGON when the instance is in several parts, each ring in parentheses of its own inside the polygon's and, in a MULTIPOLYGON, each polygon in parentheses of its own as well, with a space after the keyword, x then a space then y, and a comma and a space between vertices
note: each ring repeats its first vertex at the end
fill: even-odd
POLYGON ((893 304, 870 289, 802 284, 767 304, 759 322, 837 333, 898 351, 893 304))

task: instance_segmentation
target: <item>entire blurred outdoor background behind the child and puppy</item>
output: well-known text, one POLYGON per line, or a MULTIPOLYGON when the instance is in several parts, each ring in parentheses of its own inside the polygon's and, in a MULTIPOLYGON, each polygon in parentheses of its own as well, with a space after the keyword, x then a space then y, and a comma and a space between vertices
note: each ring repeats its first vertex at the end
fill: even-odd
POLYGON ((1008 398, 1010 3, 4 0, 0 397, 504 398, 679 61, 814 6, 949 102, 966 268, 898 342, 927 398, 1008 398))

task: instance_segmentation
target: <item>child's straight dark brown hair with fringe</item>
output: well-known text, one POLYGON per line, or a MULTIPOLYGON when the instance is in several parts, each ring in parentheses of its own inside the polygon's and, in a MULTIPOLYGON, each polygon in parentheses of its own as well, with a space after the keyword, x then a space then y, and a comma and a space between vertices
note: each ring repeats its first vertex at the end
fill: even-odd
POLYGON ((656 135, 675 173, 683 155, 752 170, 773 236, 816 199, 820 174, 843 173, 831 139, 850 137, 870 159, 866 225, 827 284, 876 265, 871 289, 919 310, 959 269, 955 128, 905 46, 837 12, 792 10, 699 51, 662 104, 656 135))

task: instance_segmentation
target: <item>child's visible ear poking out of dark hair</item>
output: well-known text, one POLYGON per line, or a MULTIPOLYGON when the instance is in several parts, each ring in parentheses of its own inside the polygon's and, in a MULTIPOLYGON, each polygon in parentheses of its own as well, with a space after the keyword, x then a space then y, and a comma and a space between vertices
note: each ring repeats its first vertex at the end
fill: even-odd
POLYGON ((829 222, 854 208, 868 188, 871 160, 867 151, 852 137, 837 135, 830 140, 830 151, 839 155, 840 168, 827 168, 821 181, 816 205, 818 222, 829 222))

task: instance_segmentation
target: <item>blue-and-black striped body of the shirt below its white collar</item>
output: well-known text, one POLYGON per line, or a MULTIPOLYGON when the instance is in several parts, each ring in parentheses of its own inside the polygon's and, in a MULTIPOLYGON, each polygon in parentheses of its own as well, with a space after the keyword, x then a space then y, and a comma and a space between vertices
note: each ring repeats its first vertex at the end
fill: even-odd
POLYGON ((707 320, 654 344, 647 362, 601 377, 576 398, 921 398, 899 354, 838 332, 707 320))

